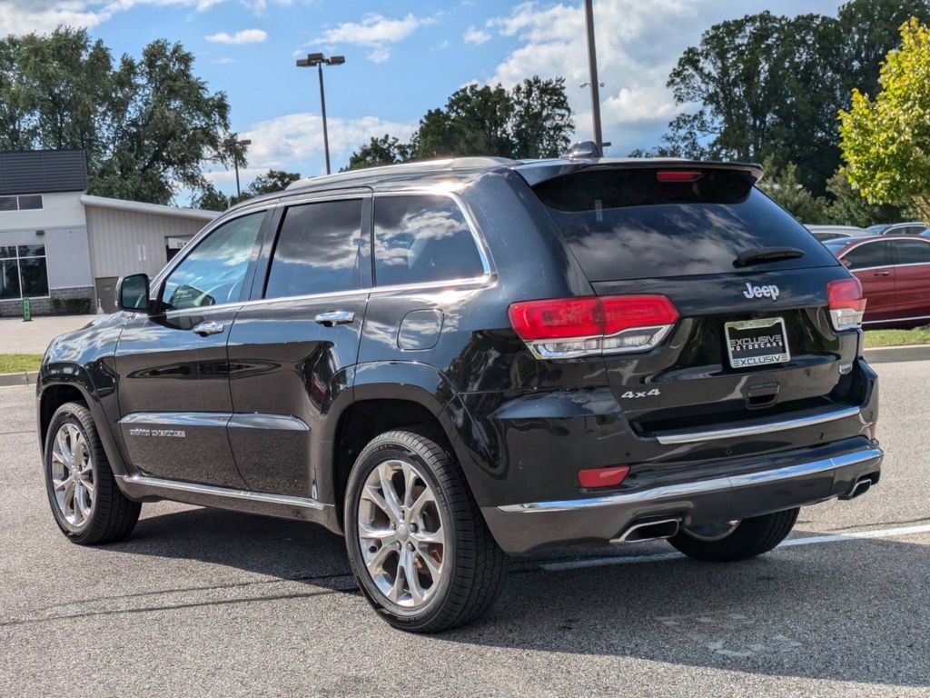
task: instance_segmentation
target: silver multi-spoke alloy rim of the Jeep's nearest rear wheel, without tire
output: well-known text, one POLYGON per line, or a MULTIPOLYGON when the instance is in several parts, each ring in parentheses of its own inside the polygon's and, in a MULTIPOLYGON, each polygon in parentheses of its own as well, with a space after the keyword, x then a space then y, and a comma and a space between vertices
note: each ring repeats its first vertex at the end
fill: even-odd
POLYGON ((358 506, 358 539, 365 569, 397 606, 419 609, 445 572, 446 527, 435 492, 412 463, 379 463, 365 479, 358 506))

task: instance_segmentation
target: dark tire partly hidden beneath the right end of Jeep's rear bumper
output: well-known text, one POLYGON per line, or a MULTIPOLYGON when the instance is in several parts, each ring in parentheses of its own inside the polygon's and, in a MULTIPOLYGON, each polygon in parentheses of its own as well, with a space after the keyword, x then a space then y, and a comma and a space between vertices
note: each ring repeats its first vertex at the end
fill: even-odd
POLYGON ((800 509, 788 509, 764 517, 744 518, 725 535, 705 535, 682 529, 669 539, 688 557, 707 562, 734 562, 767 553, 781 543, 798 520, 800 509))

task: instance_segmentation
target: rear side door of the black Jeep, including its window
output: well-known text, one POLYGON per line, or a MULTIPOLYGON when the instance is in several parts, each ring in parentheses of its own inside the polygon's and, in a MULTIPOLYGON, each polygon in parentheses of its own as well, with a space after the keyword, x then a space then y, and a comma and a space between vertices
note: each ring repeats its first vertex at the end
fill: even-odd
POLYGON ((317 196, 279 209, 229 357, 229 438, 250 489, 318 499, 321 426, 352 383, 371 286, 371 195, 317 196))

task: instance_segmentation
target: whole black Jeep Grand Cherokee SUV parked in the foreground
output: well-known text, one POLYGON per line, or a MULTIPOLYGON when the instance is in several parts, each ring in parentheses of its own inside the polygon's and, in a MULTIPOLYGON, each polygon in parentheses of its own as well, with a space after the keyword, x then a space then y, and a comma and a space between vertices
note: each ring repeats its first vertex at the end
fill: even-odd
POLYGON ((508 554, 764 553, 878 481, 849 275, 754 165, 463 158, 230 209, 49 346, 74 543, 159 499, 322 524, 389 623, 468 622, 508 554))

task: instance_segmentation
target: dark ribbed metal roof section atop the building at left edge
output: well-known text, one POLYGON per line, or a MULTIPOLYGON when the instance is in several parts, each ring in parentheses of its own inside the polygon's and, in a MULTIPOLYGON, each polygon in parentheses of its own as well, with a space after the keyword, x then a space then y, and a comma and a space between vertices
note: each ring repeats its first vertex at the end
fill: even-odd
POLYGON ((0 152, 0 195, 86 189, 87 163, 83 150, 0 152))

